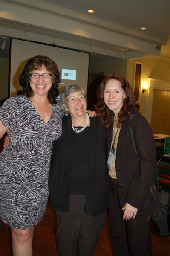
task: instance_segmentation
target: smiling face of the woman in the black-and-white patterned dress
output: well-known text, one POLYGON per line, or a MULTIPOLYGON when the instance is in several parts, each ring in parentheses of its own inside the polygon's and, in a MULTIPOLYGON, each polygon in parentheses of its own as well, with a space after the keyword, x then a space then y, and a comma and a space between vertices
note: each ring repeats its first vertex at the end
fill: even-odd
MULTIPOLYGON (((33 70, 31 74, 51 74, 48 70, 46 70, 45 66, 42 65, 41 70, 33 70)), ((52 87, 52 76, 48 79, 43 79, 42 76, 39 78, 31 78, 30 76, 30 87, 32 88, 34 94, 38 96, 48 95, 49 89, 52 87)))

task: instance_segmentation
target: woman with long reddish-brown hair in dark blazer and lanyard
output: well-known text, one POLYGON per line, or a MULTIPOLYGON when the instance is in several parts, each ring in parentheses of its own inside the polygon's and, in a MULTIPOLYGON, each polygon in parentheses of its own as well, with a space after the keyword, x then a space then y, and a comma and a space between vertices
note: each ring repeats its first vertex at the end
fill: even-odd
POLYGON ((106 76, 98 87, 97 97, 98 119, 107 130, 106 182, 114 255, 151 256, 149 215, 153 214, 155 206, 150 187, 156 169, 152 131, 123 76, 106 76), (130 125, 140 163, 135 155, 130 125))

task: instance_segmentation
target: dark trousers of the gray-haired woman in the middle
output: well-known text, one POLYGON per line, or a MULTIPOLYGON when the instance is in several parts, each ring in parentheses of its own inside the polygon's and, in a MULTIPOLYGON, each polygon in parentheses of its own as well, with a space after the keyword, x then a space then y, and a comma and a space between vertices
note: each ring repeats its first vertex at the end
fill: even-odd
POLYGON ((92 256, 104 229, 106 212, 100 217, 84 214, 86 195, 70 195, 70 211, 56 211, 60 256, 92 256), (79 240, 78 240, 79 239, 79 240))

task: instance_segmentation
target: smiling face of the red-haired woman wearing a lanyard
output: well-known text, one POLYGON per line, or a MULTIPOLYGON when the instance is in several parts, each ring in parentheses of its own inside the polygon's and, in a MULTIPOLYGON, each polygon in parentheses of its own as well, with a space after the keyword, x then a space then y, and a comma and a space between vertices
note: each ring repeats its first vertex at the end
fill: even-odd
POLYGON ((104 90, 104 102, 107 107, 113 111, 116 118, 121 110, 125 97, 126 95, 119 81, 109 80, 107 82, 104 90))

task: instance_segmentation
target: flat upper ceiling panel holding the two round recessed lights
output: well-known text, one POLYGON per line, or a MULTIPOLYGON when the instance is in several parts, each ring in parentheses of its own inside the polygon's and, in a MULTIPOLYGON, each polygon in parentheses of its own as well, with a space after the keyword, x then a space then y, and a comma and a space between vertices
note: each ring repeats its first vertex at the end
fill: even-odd
POLYGON ((88 14, 86 9, 95 9, 89 15, 138 29, 147 26, 144 33, 159 37, 170 35, 170 0, 48 0, 78 12, 88 14))

